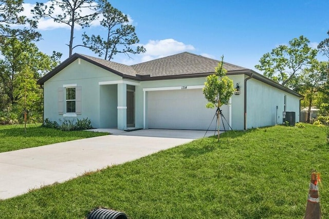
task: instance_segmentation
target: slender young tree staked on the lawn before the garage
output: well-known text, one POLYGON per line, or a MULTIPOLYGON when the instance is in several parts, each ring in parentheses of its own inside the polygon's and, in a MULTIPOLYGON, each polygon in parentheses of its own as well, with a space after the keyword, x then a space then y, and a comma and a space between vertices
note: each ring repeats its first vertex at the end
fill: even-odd
POLYGON ((203 93, 208 100, 207 108, 216 107, 216 117, 217 117, 217 127, 218 135, 217 139, 220 140, 220 124, 221 124, 221 115, 220 107, 223 104, 228 104, 230 97, 234 92, 233 81, 232 79, 226 76, 226 69, 223 67, 222 62, 218 63, 218 66, 215 68, 215 73, 207 76, 205 87, 203 88, 203 93))

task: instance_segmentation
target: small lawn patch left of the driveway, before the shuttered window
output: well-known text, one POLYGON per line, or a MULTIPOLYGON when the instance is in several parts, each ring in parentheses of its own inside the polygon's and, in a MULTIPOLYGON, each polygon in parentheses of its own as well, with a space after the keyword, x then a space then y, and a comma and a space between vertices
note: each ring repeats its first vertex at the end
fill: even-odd
POLYGON ((0 126, 0 152, 38 147, 59 142, 67 142, 87 137, 96 137, 107 133, 90 131, 61 131, 44 128, 40 124, 0 126))

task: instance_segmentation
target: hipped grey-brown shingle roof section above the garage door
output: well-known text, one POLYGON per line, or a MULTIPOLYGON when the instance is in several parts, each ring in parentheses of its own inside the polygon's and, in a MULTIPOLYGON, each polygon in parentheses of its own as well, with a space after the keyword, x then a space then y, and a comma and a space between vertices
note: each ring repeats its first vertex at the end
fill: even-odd
MULTIPOLYGON (((213 73, 220 61, 183 52, 163 58, 154 59, 149 62, 132 65, 131 67, 140 75, 169 76, 198 73, 213 73)), ((246 68, 224 63, 227 71, 246 70, 246 68)))

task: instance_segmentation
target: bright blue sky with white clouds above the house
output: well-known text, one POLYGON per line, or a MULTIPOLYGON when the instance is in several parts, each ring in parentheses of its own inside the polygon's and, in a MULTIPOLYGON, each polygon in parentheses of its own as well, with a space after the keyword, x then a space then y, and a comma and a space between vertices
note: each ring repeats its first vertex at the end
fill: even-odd
MULTIPOLYGON (((41 1, 46 3, 46 1, 41 1)), ((28 15, 34 1, 26 1, 28 15)), ((110 3, 130 17, 131 24, 147 52, 117 55, 112 61, 135 64, 154 58, 188 51, 254 69, 261 56, 273 48, 288 44, 300 35, 315 47, 329 37, 329 2, 327 0, 277 1, 200 1, 200 0, 113 0, 110 3)), ((54 26, 52 21, 40 23, 43 40, 39 49, 47 54, 53 50, 68 57, 69 29, 54 26)), ((77 29, 74 44, 81 43, 81 34, 87 31, 101 34, 97 24, 77 29)), ((97 57, 92 51, 77 47, 74 53, 97 57)), ((325 60, 321 55, 320 60, 325 60)), ((255 69, 254 69, 255 70, 255 69)))

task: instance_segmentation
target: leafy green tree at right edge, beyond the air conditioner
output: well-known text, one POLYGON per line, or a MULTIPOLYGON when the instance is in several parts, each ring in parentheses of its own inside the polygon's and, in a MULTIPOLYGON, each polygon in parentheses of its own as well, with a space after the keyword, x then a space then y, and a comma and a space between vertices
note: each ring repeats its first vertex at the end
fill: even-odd
POLYGON ((325 90, 324 86, 327 83, 328 66, 329 62, 319 62, 315 60, 309 68, 303 69, 301 74, 301 84, 296 91, 304 95, 301 105, 308 108, 308 116, 306 121, 308 123, 311 122, 311 108, 321 104, 318 103, 318 95, 319 92, 325 90))

